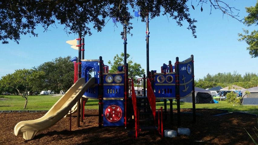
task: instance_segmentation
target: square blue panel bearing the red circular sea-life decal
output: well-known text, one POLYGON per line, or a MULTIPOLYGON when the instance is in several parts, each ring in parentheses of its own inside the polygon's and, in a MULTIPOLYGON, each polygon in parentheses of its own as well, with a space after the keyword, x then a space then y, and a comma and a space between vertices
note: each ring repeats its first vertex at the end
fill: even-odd
POLYGON ((103 100, 103 126, 124 125, 124 100, 103 100))

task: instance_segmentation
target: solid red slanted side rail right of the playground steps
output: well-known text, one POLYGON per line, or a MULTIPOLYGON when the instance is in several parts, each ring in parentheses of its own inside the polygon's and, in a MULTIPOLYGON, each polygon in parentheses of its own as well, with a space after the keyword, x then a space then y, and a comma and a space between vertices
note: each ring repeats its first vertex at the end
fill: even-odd
POLYGON ((151 86, 151 82, 149 80, 149 78, 147 79, 147 97, 152 109, 152 113, 154 116, 154 120, 155 120, 155 116, 156 116, 156 97, 154 95, 154 92, 152 90, 152 86, 151 86))

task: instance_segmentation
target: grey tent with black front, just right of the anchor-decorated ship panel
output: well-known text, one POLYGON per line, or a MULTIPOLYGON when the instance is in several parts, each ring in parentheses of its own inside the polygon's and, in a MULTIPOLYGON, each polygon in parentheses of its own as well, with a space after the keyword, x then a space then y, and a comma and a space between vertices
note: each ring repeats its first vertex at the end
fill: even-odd
MULTIPOLYGON (((195 90, 195 103, 196 104, 213 104, 213 98, 211 92, 205 89, 194 87, 195 90)), ((180 102, 192 103, 192 94, 186 98, 180 99, 180 102)))

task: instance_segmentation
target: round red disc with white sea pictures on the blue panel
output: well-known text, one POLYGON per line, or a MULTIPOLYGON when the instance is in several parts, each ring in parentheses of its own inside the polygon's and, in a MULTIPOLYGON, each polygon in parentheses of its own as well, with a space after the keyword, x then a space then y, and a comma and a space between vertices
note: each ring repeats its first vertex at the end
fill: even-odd
POLYGON ((122 118, 122 110, 118 105, 109 105, 105 110, 105 118, 107 121, 115 123, 122 118))

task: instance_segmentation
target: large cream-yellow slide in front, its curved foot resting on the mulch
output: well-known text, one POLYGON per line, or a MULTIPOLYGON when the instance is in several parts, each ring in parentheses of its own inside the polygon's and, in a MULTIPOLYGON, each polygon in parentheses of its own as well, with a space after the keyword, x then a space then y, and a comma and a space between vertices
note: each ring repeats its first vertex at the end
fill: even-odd
POLYGON ((83 93, 94 84, 95 77, 90 78, 87 83, 85 83, 84 78, 78 79, 43 117, 16 124, 14 127, 15 135, 23 135, 25 140, 33 139, 38 132, 50 128, 67 115, 83 93))

